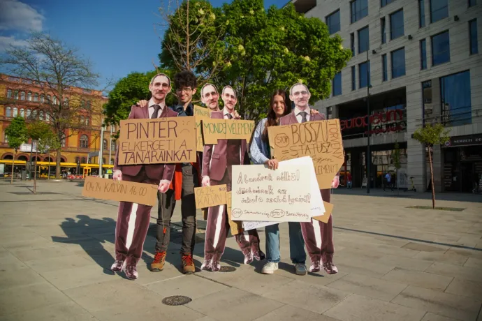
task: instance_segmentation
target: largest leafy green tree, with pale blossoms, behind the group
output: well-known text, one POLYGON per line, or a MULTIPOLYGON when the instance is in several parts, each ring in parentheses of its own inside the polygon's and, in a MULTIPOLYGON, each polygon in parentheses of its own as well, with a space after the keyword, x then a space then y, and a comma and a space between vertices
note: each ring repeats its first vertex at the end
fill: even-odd
MULTIPOLYGON (((185 2, 195 6, 198 1, 185 2)), ((203 59, 196 72, 208 75, 215 71, 212 82, 219 88, 231 85, 245 119, 264 117, 272 92, 289 89, 295 82, 309 87, 310 103, 328 97, 331 80, 351 58, 351 51, 342 47, 342 38, 330 36, 318 18, 297 13, 292 3, 265 10, 263 0, 233 0, 222 6, 212 25, 217 30, 213 36, 224 31, 218 40, 224 48, 219 53, 222 58, 203 59)), ((168 29, 164 37, 170 32, 168 29)), ((183 54, 163 50, 161 63, 176 66, 183 54)))

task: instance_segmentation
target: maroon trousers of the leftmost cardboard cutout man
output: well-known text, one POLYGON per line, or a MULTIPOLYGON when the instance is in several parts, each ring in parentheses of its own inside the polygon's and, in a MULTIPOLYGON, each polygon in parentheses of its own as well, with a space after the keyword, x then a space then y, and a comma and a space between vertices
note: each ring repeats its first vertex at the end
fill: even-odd
MULTIPOLYGON (((135 177, 122 175, 124 181, 136 183, 159 184, 159 180, 147 177, 145 167, 135 177)), ((143 254, 143 247, 149 220, 151 218, 152 206, 136 204, 131 202, 119 202, 117 223, 115 225, 115 260, 126 260, 126 266, 136 265, 143 254), (136 215, 136 223, 129 226, 131 215, 136 215)))

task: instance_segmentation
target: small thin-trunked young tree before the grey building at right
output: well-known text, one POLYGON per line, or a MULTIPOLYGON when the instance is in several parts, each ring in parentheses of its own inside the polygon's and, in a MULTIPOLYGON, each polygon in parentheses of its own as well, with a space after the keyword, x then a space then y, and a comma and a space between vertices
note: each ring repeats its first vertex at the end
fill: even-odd
POLYGON ((424 127, 418 128, 414 133, 414 140, 421 142, 428 152, 428 163, 430 163, 430 179, 432 180, 432 207, 435 209, 435 187, 434 187, 434 170, 432 153, 434 145, 445 144, 450 140, 448 137, 449 129, 442 124, 425 124, 424 127))

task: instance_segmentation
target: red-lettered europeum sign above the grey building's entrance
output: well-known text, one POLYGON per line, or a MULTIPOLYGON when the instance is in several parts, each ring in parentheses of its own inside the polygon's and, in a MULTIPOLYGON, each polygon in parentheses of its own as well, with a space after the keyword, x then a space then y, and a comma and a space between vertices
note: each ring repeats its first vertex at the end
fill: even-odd
POLYGON ((370 115, 370 117, 365 115, 352 119, 344 119, 340 120, 339 124, 343 131, 351 128, 368 127, 369 121, 372 125, 372 130, 370 130, 369 134, 397 132, 407 128, 407 123, 403 120, 403 110, 400 109, 377 112, 370 115))

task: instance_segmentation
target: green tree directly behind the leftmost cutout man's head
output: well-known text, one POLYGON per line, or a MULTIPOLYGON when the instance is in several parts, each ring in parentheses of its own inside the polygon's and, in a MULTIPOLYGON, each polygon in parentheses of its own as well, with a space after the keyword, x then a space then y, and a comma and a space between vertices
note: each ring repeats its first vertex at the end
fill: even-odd
MULTIPOLYGON (((170 70, 156 70, 148 73, 130 73, 115 84, 109 93, 109 101, 103 105, 105 124, 118 125, 122 119, 129 117, 131 106, 139 100, 149 100, 149 82, 157 73, 173 76, 170 70)), ((166 105, 172 105, 175 100, 173 91, 166 97, 166 105)))

